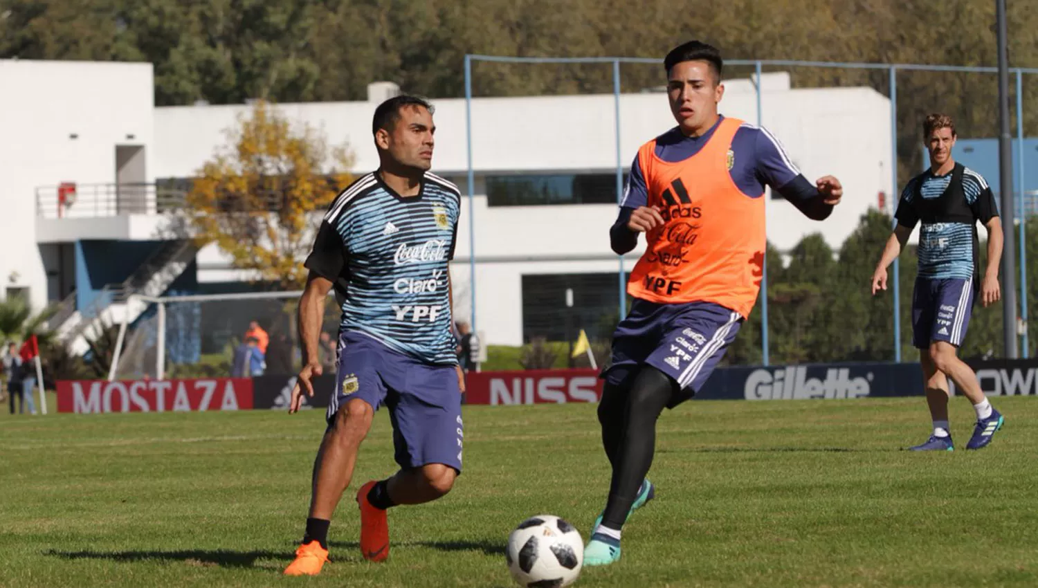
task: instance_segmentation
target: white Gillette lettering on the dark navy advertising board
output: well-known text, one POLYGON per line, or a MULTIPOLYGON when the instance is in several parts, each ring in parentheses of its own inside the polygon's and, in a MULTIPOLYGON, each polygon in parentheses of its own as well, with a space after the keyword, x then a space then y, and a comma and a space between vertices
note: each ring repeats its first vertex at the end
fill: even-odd
POLYGON ((852 375, 849 367, 760 368, 746 376, 743 394, 747 400, 861 398, 870 394, 874 379, 871 371, 852 375))

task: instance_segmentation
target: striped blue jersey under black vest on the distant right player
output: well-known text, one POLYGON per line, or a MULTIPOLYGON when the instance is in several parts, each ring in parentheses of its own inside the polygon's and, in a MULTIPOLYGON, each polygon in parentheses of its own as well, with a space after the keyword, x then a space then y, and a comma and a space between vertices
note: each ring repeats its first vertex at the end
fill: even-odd
MULTIPOLYGON (((934 175, 927 170, 917 175, 905 186, 898 205, 901 224, 914 226, 920 220, 917 199, 934 200, 940 198, 952 181, 953 173, 934 175), (908 221, 906 222, 906 219, 908 221)), ((967 209, 975 218, 987 222, 998 215, 998 203, 991 195, 987 181, 979 173, 965 168, 962 172, 962 194, 967 209)), ((956 203, 949 203, 949 207, 956 203)), ((950 209, 948 212, 951 212, 950 209)), ((974 231, 976 222, 928 222, 922 219, 919 235, 919 276, 931 279, 974 277, 974 231)))

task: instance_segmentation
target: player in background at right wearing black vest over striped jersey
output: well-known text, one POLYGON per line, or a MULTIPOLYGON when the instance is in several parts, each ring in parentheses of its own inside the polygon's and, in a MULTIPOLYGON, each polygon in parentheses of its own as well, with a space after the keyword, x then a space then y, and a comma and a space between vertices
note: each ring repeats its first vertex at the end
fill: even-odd
POLYGON ((1002 428, 1004 418, 991 408, 977 374, 957 356, 969 325, 977 293, 984 306, 999 301, 1002 222, 987 181, 952 159, 955 124, 950 116, 931 114, 923 123, 930 169, 911 178, 901 193, 894 234, 872 276, 872 293, 886 289, 886 267, 901 253, 917 223, 919 276, 912 293, 912 344, 920 349, 926 402, 933 433, 913 451, 952 451, 948 420, 948 379, 965 394, 977 412, 977 424, 966 449, 980 449, 1002 428), (987 229, 987 269, 980 277, 977 221, 987 229), (977 284, 981 287, 978 292, 977 284))

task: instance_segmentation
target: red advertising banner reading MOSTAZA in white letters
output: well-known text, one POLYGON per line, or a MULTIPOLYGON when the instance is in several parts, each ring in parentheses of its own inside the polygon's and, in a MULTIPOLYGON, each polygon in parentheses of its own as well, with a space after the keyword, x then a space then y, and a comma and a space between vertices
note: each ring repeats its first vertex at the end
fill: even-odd
POLYGON ((58 412, 162 413, 239 411, 252 408, 252 380, 58 381, 58 412))

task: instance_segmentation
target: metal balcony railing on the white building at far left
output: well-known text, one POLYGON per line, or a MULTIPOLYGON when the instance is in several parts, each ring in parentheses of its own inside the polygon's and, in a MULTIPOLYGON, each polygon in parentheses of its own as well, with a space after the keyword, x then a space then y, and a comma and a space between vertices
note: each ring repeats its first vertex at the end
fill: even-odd
POLYGON ((36 216, 44 219, 155 215, 184 207, 187 192, 155 184, 77 184, 74 196, 59 186, 36 188, 36 216))

